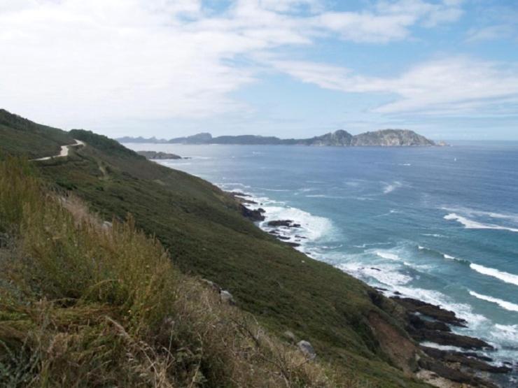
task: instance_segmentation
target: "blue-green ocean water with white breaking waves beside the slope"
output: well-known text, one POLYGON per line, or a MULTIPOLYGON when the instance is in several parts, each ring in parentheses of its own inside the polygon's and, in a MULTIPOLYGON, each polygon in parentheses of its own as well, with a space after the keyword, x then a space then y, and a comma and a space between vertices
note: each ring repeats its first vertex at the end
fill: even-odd
MULTIPOLYGON (((297 249, 386 294, 454 310, 454 331, 518 361, 518 143, 444 148, 126 144, 294 220, 297 249)), ((516 368, 516 367, 515 367, 516 368)), ((518 384, 516 369, 498 382, 518 384)))

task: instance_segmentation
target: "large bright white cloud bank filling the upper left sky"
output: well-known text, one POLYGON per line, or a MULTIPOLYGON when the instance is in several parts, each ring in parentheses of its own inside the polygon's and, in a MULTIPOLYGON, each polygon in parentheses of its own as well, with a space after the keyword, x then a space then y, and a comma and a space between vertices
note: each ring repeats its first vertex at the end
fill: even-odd
MULTIPOLYGON (((204 8, 201 0, 0 0, 0 106, 65 127, 91 117, 116 122, 248 110, 230 95, 255 82, 258 71, 235 59, 311 45, 322 34, 393 41, 414 25, 451 21, 460 9, 451 0, 431 4, 330 12, 320 0, 236 0, 225 10, 204 8)), ((374 82, 338 80, 353 89, 374 82)))

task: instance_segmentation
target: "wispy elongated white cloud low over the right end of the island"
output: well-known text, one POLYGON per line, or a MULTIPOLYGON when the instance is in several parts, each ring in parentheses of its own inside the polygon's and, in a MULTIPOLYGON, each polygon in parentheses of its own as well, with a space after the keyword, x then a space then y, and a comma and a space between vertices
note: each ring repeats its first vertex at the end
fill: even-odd
POLYGON ((395 95, 374 109, 377 113, 466 113, 518 98, 518 64, 498 64, 468 57, 435 60, 414 66, 400 76, 357 76, 327 64, 273 60, 279 71, 342 92, 395 95))

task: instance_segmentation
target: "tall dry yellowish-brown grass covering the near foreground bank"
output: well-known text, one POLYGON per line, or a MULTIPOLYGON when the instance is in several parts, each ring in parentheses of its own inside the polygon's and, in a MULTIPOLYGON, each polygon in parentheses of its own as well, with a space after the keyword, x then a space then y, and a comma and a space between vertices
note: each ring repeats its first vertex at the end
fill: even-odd
POLYGON ((155 238, 102 222, 0 163, 0 385, 348 387, 172 266, 155 238))

